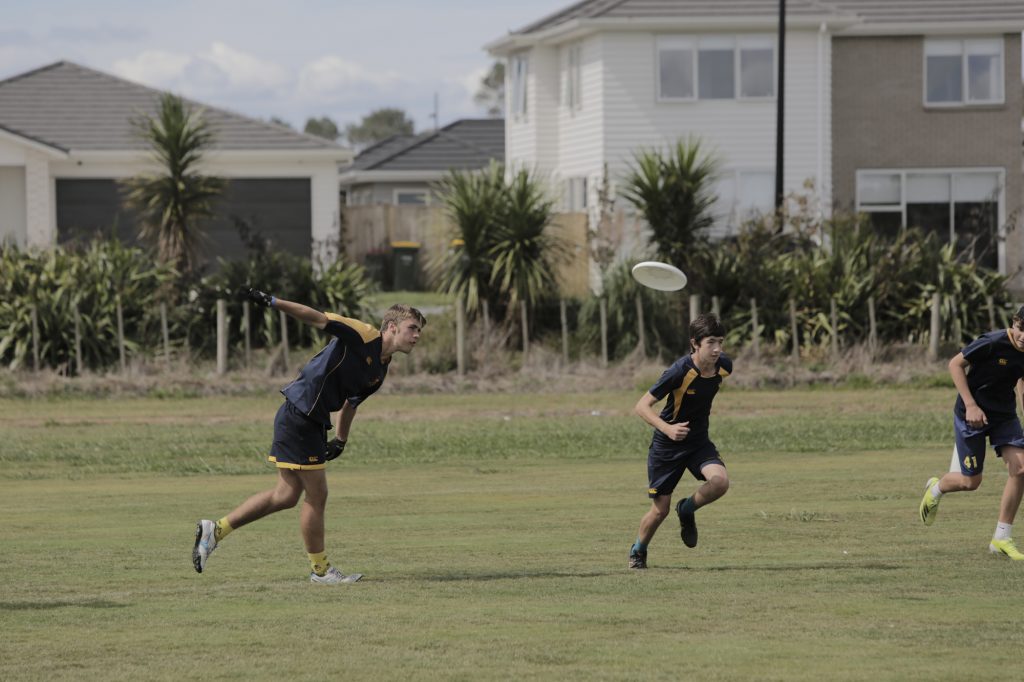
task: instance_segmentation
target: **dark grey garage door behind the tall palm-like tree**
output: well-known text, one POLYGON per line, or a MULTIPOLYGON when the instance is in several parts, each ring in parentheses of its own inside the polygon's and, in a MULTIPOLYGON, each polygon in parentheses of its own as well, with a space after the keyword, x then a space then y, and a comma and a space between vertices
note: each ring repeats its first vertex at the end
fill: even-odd
MULTIPOLYGON (((58 178, 57 240, 60 244, 117 235, 137 244, 136 216, 121 205, 113 179, 58 178)), ((204 225, 207 261, 244 258, 244 239, 268 240, 274 248, 309 257, 312 209, 309 178, 229 180, 216 203, 216 217, 204 225)))

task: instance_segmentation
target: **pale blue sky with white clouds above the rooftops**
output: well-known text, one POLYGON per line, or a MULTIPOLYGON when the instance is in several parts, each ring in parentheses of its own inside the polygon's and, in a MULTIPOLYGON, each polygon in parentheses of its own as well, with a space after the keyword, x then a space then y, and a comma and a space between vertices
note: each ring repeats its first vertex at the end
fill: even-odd
POLYGON ((482 46, 572 0, 0 0, 0 79, 68 59, 247 116, 481 116, 482 46))

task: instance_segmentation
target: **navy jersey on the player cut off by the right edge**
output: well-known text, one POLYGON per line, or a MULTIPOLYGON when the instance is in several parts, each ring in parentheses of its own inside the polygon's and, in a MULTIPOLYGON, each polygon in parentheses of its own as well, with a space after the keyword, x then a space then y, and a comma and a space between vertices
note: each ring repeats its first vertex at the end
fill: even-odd
MULTIPOLYGON (((1002 329, 982 334, 961 352, 971 364, 967 372, 971 395, 989 422, 1017 419, 1014 387, 1024 377, 1024 348, 1015 346, 1010 332, 1002 329)), ((953 412, 961 419, 966 418, 964 398, 959 395, 953 412)))

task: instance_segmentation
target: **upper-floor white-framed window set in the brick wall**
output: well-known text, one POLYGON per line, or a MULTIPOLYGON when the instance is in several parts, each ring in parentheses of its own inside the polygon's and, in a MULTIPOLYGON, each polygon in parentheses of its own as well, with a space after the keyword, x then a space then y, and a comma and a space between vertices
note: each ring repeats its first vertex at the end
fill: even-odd
POLYGON ((925 41, 925 103, 1001 104, 1002 38, 925 41))

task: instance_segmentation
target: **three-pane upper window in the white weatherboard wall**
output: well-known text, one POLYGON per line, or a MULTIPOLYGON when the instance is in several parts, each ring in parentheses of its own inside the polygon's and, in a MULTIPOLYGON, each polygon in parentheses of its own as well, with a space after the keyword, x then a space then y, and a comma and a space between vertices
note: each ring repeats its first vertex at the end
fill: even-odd
POLYGON ((656 50, 659 101, 775 96, 771 36, 659 36, 656 50))

